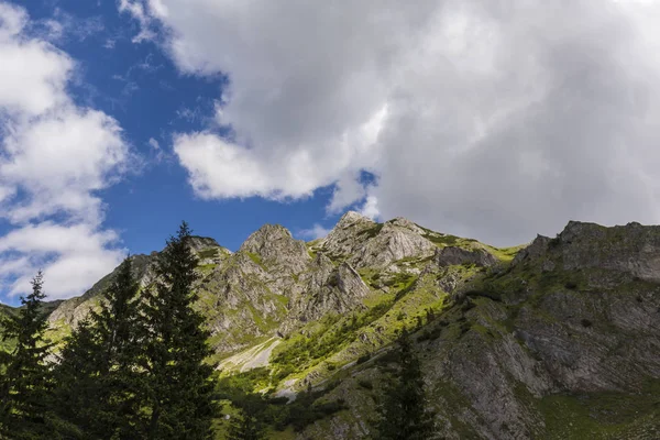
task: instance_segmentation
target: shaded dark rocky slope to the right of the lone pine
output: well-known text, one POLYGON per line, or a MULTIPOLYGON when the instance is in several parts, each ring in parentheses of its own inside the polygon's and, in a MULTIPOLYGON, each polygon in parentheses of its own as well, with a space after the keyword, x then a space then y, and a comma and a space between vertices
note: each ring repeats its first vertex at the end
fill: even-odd
MULTIPOLYGON (((659 232, 571 222, 557 239, 538 237, 506 272, 486 273, 483 296, 420 330, 439 334, 417 350, 440 433, 660 438, 659 232)), ((460 263, 469 252, 444 248, 440 255, 460 263)), ((369 367, 353 374, 382 375, 369 367)), ((334 395, 353 395, 353 410, 364 408, 365 393, 342 386, 334 395)), ((366 437, 360 427, 359 418, 344 422, 353 433, 340 438, 366 437)), ((317 438, 336 438, 315 428, 317 438)))

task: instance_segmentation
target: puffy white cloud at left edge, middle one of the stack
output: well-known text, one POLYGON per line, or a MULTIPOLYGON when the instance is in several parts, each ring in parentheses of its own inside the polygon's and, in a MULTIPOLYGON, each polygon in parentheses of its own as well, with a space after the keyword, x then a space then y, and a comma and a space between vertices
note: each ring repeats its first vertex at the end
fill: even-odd
POLYGON ((92 191, 109 185, 128 154, 117 121, 73 107, 20 124, 3 146, 2 180, 31 196, 7 213, 18 222, 65 211, 98 223, 100 200, 92 191))

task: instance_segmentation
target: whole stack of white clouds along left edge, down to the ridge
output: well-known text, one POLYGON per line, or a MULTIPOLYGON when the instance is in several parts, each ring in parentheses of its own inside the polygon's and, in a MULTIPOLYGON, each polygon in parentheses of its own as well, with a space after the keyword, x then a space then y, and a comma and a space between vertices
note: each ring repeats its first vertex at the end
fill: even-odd
POLYGON ((74 103, 75 62, 29 24, 22 8, 0 2, 0 216, 9 222, 0 282, 24 294, 43 268, 50 298, 65 298, 122 257, 96 193, 121 174, 129 151, 116 120, 74 103))

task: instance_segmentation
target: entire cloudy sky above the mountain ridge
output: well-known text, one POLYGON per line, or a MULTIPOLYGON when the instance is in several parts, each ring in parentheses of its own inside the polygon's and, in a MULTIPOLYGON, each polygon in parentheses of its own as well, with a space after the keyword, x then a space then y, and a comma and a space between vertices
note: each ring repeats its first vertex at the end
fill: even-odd
POLYGON ((656 0, 0 0, 0 301, 186 220, 495 245, 660 220, 656 0))

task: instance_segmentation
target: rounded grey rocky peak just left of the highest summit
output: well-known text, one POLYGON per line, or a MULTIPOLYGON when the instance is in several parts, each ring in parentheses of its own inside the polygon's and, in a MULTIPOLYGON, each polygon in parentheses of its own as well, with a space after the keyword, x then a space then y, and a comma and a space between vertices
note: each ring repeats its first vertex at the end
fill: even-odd
POLYGON ((293 273, 304 271, 311 260, 305 242, 295 240, 288 229, 279 224, 261 227, 239 251, 257 255, 265 265, 277 265, 293 273))

